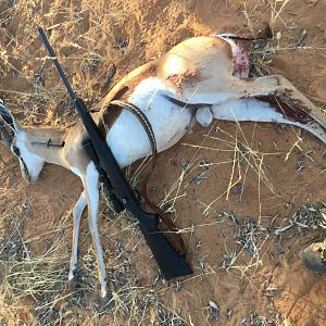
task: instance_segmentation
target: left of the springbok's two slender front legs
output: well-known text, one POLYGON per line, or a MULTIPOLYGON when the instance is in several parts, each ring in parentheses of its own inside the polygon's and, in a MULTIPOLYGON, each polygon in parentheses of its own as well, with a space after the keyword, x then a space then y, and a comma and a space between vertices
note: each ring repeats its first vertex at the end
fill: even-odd
POLYGON ((87 197, 85 190, 82 192, 78 201, 76 202, 73 210, 74 217, 74 229, 73 229, 73 246, 72 246, 72 255, 71 255, 71 268, 68 274, 68 280, 72 281, 74 279, 74 272, 78 265, 78 235, 79 235, 79 226, 80 218, 83 212, 87 205, 87 197))

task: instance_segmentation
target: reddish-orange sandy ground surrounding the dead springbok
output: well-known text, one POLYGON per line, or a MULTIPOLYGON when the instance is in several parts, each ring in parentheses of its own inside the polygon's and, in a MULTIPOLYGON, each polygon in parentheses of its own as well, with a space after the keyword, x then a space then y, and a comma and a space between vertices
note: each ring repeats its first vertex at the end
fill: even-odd
MULTIPOLYGON (((74 88, 91 104, 108 91, 105 80, 113 63, 116 82, 187 37, 215 32, 251 35, 272 22, 273 49, 277 51, 274 54, 271 50, 273 55, 264 58, 262 73, 283 74, 316 103, 326 102, 326 1, 292 0, 277 16, 271 15, 272 3, 279 9, 284 2, 1 1, 1 93, 25 124, 55 126, 75 118, 54 68, 42 60, 38 24, 51 30, 50 40, 74 88), (306 37, 302 38, 304 30, 306 37)), ((43 254, 49 242, 64 240, 67 273, 70 213, 82 189, 79 180, 49 165, 36 184, 26 185, 15 160, 3 146, 0 150, 1 203, 24 216, 18 229, 33 255, 43 254)), ((150 180, 153 200, 168 198, 174 202, 193 276, 180 283, 153 281, 156 266, 137 229, 127 227, 129 220, 113 216, 105 209, 100 216, 110 273, 114 274, 112 264, 118 262, 114 253, 120 239, 130 254, 133 275, 138 275, 137 296, 154 293, 170 315, 179 317, 162 322, 156 305, 149 301, 145 316, 117 312, 116 317, 109 312, 95 321, 88 308, 74 306, 76 319, 80 325, 324 325, 325 276, 306 271, 298 256, 302 244, 321 230, 293 227, 281 236, 274 231, 288 225, 288 218, 303 204, 325 203, 325 146, 306 133, 253 123, 214 122, 208 129, 196 127, 180 143, 160 154, 150 180), (298 135, 303 141, 294 146, 298 135), (241 163, 233 171, 234 158, 241 163), (185 174, 187 164, 192 167, 185 174), (229 184, 235 186, 227 193, 229 184), (243 249, 237 236, 252 221, 262 226, 254 239, 256 254, 243 249), (222 262, 233 252, 236 261, 223 268, 222 262)), ((3 212, 2 205, 4 216, 3 212)), ((10 223, 8 215, 2 220, 4 238, 10 223)), ((80 256, 88 253, 91 243, 87 226, 82 230, 80 256)), ((0 271, 5 275, 4 266, 0 271)), ((125 285, 131 292, 128 281, 125 285)), ((16 321, 3 313, 4 325, 18 319, 26 325, 38 323, 35 301, 28 296, 24 300, 25 309, 16 313, 16 321)), ((59 302, 59 306, 63 305, 59 302)), ((61 323, 68 324, 64 318, 61 323)))

